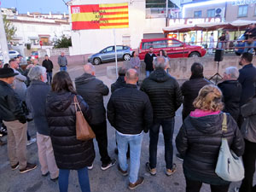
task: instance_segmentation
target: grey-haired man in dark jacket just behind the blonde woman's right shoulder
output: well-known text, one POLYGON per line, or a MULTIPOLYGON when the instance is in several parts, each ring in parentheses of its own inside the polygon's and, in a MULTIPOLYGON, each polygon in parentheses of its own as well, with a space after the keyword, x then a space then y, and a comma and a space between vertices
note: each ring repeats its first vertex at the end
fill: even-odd
POLYGON ((224 112, 238 120, 240 113, 241 84, 238 82, 239 72, 236 67, 227 67, 224 72, 224 81, 218 84, 223 93, 224 112))

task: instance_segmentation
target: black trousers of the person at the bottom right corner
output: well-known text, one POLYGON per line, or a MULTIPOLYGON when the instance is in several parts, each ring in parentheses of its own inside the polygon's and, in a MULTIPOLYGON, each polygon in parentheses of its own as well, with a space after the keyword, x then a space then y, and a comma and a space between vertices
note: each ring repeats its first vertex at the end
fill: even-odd
POLYGON ((242 155, 245 177, 241 182, 239 192, 256 192, 256 186, 253 188, 253 174, 255 172, 256 161, 256 143, 245 141, 245 150, 242 155))

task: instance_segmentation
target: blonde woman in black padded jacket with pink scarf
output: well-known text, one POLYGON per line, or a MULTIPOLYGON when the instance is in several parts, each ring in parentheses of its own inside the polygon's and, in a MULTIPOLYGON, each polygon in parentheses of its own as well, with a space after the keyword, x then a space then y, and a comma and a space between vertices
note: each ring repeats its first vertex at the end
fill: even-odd
POLYGON ((244 150, 244 141, 236 121, 227 113, 228 131, 222 131, 224 113, 222 92, 209 84, 195 98, 195 111, 189 114, 177 134, 177 151, 183 156, 186 192, 199 192, 202 183, 211 185, 212 192, 227 192, 230 182, 215 173, 222 137, 226 137, 237 156, 244 150))

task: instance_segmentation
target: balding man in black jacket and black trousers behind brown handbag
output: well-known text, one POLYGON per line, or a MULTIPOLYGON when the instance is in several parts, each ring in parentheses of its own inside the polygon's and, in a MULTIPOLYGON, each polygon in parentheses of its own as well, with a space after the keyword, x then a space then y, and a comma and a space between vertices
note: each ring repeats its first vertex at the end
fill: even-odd
POLYGON ((96 141, 102 157, 102 170, 107 170, 116 162, 108 156, 106 109, 103 103, 103 96, 108 96, 108 86, 96 79, 95 67, 90 63, 84 65, 84 74, 75 79, 75 85, 78 94, 90 107, 92 113, 90 126, 96 134, 96 141))

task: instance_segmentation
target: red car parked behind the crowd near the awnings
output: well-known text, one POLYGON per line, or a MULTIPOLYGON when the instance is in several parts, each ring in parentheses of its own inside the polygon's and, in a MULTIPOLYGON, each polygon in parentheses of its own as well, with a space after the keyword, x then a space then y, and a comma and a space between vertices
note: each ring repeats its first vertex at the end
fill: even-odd
POLYGON ((144 59, 149 47, 154 48, 154 54, 158 54, 160 49, 166 50, 170 58, 179 57, 201 57, 206 55, 207 50, 198 45, 185 44, 176 38, 151 38, 142 39, 139 47, 139 58, 144 59))

